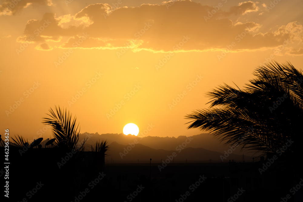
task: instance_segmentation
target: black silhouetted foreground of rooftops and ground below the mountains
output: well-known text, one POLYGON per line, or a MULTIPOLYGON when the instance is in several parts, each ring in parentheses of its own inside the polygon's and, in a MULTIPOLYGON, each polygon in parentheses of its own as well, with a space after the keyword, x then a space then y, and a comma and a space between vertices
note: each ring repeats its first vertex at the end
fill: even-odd
POLYGON ((9 165, 9 179, 4 179, 4 166, 1 170, 1 201, 302 201, 303 180, 278 161, 264 167, 267 159, 102 164, 104 154, 66 154, 54 148, 32 149, 22 155, 18 148, 11 148, 10 159, 10 164, 4 164, 9 165), (9 198, 4 197, 7 180, 9 198))

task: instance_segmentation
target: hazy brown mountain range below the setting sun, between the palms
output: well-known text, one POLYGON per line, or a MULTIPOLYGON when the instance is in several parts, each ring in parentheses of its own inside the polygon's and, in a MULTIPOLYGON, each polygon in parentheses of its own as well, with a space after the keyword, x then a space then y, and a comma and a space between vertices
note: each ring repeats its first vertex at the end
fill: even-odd
MULTIPOLYGON (((175 152, 174 162, 227 162, 252 161, 252 153, 241 152, 240 147, 234 147, 233 151, 228 145, 224 145, 214 138, 212 134, 203 133, 190 137, 138 137, 125 134, 79 134, 79 141, 85 142, 85 151, 91 150, 91 145, 97 141, 106 140, 109 151, 106 152, 106 162, 149 162, 152 158, 157 162, 165 161, 175 152), (230 154, 228 154, 228 152, 230 154), (225 156, 224 156, 225 154, 225 156), (226 157, 226 158, 223 158, 226 157)), ((153 161, 154 161, 153 160, 153 161)), ((167 160, 168 161, 168 160, 167 160)))

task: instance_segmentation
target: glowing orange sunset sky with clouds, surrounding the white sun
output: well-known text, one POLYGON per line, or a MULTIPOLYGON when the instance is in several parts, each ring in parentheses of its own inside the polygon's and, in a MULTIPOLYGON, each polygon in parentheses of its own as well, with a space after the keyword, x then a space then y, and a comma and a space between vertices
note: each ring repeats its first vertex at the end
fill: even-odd
POLYGON ((303 67, 299 0, 0 4, 0 134, 12 137, 37 137, 55 105, 81 133, 135 123, 154 125, 151 136, 195 135, 184 116, 209 106, 206 92, 241 88, 270 58, 303 67))

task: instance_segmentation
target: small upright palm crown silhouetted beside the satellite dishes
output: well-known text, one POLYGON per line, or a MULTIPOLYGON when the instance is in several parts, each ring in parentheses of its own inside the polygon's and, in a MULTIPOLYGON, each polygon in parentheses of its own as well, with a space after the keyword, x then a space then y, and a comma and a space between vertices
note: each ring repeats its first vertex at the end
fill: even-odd
POLYGON ((55 106, 55 109, 56 112, 52 108, 49 109, 50 114, 47 115, 50 116, 50 118, 43 118, 42 123, 52 126, 53 135, 58 142, 57 147, 68 151, 83 151, 83 145, 86 139, 80 146, 77 145, 80 128, 78 130, 79 124, 76 125, 76 117, 72 120, 72 114, 70 114, 69 111, 67 113, 66 109, 64 111, 64 108, 61 110, 60 107, 57 108, 57 106, 55 106))

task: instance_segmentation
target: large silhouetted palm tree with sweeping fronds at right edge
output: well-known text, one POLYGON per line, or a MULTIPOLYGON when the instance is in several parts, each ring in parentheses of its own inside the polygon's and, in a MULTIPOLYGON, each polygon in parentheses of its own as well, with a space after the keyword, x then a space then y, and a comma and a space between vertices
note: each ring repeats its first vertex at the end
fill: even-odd
MULTIPOLYGON (((303 75, 289 62, 258 67, 255 79, 240 90, 224 84, 207 93, 209 109, 185 116, 189 128, 210 131, 226 144, 241 149, 276 153, 281 148, 288 160, 301 159, 303 75)), ((283 155, 284 156, 284 155, 283 155)))

